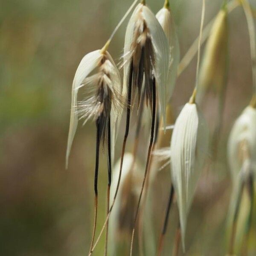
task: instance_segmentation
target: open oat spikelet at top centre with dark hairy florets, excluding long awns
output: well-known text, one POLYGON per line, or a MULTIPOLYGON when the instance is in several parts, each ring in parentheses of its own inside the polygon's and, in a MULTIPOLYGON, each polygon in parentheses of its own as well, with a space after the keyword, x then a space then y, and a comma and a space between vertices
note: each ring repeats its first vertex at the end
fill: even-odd
POLYGON ((160 97, 164 121, 166 119, 166 90, 169 72, 169 44, 160 23, 154 14, 143 4, 138 4, 129 20, 124 47, 124 86, 126 96, 129 72, 132 71, 132 91, 139 93, 145 77, 147 101, 151 104, 152 81, 155 78, 160 97), (132 70, 131 70, 132 69, 132 70))

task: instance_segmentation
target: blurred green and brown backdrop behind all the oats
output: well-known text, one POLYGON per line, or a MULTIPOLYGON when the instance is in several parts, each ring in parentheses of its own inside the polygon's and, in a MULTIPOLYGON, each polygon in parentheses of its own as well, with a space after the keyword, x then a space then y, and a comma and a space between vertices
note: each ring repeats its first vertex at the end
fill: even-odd
MULTIPOLYGON (((147 1, 154 13, 162 8, 162 2, 147 1)), ((201 0, 170 2, 183 57, 199 33, 201 0)), ((131 3, 132 0, 1 1, 0 255, 87 255, 93 224, 96 134, 93 122, 79 125, 69 169, 65 170, 71 86, 81 58, 102 48, 131 3)), ((251 3, 256 7, 255 1, 251 3)), ((207 0, 205 24, 221 4, 221 0, 207 0)), ((116 63, 122 55, 126 24, 127 20, 109 49, 116 63)), ((230 13, 229 25, 229 73, 220 156, 217 167, 204 171, 198 185, 186 238, 186 255, 190 256, 221 256, 226 251, 231 191, 226 142, 234 120, 252 95, 249 37, 240 7, 230 13)), ((196 58, 177 79, 172 99, 175 116, 192 93, 195 67, 196 58)), ((209 121, 214 104, 215 96, 209 95, 204 108, 209 121)), ((132 129, 131 138, 133 132, 132 129)), ((120 155, 122 136, 121 132, 116 157, 120 155)), ((139 153, 143 157, 145 152, 141 149, 139 153)), ((106 162, 101 154, 97 233, 105 218, 106 162)), ((161 224, 169 186, 159 179, 155 190, 159 207, 154 218, 161 224)), ((176 208, 171 213, 163 255, 171 254, 176 208)), ((251 256, 256 255, 255 227, 256 218, 249 241, 251 256)), ((156 225, 156 240, 159 232, 160 225, 156 225)), ((94 254, 102 255, 103 248, 104 239, 94 254)))

